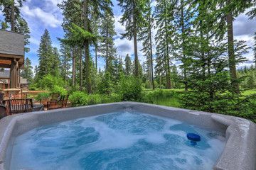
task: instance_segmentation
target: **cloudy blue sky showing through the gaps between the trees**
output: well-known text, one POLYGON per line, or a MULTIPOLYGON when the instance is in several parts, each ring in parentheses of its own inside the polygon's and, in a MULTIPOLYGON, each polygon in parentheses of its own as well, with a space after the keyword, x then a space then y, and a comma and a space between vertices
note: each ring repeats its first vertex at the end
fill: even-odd
MULTIPOLYGON (((21 8, 21 13, 23 18, 26 19, 28 23, 28 27, 31 30, 31 38, 30 38, 30 49, 31 51, 25 54, 25 57, 28 57, 32 66, 35 67, 38 65, 38 57, 37 50, 39 49, 40 39, 44 33, 45 29, 48 29, 50 33, 50 38, 53 42, 53 47, 60 48, 60 43, 57 38, 63 38, 65 34, 63 32, 63 28, 61 27, 61 23, 63 22, 62 11, 58 8, 57 4, 60 4, 63 0, 26 0, 23 2, 23 7, 21 8)), ((121 8, 117 6, 117 0, 113 0, 114 4, 114 17, 115 17, 115 30, 117 32, 117 36, 114 40, 115 47, 117 47, 117 55, 121 55, 123 60, 124 57, 129 54, 132 59, 134 56, 134 44, 133 40, 121 40, 120 33, 124 33, 124 26, 119 23, 119 19, 122 16, 121 8)), ((246 13, 246 11, 245 11, 246 13)), ((245 40, 247 45, 253 47, 255 41, 253 39, 254 33, 256 32, 256 20, 248 20, 248 17, 245 16, 245 13, 240 14, 238 18, 235 18, 233 23, 234 28, 234 36, 237 40, 245 40)), ((0 19, 3 19, 2 13, 0 11, 0 19)), ((156 31, 154 31, 155 33, 156 31)), ((156 47, 156 45, 154 45, 156 47)), ((142 49, 142 43, 138 42, 138 49, 142 49)), ((154 48, 155 49, 155 48, 154 48)), ((247 62, 242 63, 239 67, 250 67, 253 62, 253 51, 245 55, 247 58, 247 62)), ((142 64, 146 60, 143 53, 138 51, 139 54, 139 62, 142 64)), ((154 50, 153 53, 156 51, 154 50)), ((94 56, 94 52, 92 52, 92 56, 94 56)), ((102 58, 98 58, 97 64, 102 69, 105 65, 105 60, 102 58)), ((178 62, 174 61, 174 64, 178 64, 178 62)))

